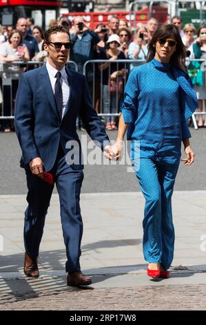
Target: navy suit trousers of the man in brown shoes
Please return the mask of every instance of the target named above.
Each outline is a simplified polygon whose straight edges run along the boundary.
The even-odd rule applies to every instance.
[[[79,197],[83,181],[83,171],[74,170],[66,161],[61,147],[50,173],[53,174],[59,193],[63,239],[68,260],[66,272],[80,271],[81,238],[83,222]],[[45,216],[50,205],[54,186],[26,171],[28,185],[28,207],[25,210],[24,244],[30,257],[39,255],[39,245],[43,235]]]

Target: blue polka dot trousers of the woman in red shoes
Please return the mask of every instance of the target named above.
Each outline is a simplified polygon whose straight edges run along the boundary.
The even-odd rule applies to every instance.
[[[136,176],[145,196],[143,254],[148,263],[161,263],[167,270],[174,256],[172,192],[178,165],[141,158]]]

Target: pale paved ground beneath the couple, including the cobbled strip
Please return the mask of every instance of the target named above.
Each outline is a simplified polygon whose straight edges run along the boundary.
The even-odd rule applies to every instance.
[[[23,275],[25,196],[0,196],[0,310],[206,310],[206,192],[174,192],[176,245],[171,277],[147,277],[141,193],[82,194],[81,265],[87,290],[65,286],[59,198],[52,197],[39,279]]]

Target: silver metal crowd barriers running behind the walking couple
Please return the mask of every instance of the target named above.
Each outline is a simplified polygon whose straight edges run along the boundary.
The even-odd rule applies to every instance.
[[[190,62],[205,62],[203,64],[203,70],[206,70],[205,59],[187,59],[186,64],[189,66]],[[108,64],[107,74],[101,69],[103,64]],[[121,114],[121,102],[123,100],[123,89],[127,82],[127,77],[131,71],[131,68],[145,63],[145,60],[131,60],[131,59],[117,59],[117,60],[90,60],[85,62],[83,66],[83,74],[87,78],[87,82],[90,88],[90,94],[92,95],[92,102],[94,109],[99,116],[105,118],[117,118]],[[12,120],[14,119],[14,98],[17,91],[19,77],[21,73],[27,71],[30,68],[37,68],[44,62],[12,62],[10,64],[0,62],[0,120]],[[110,85],[111,64],[116,64],[116,71],[124,69],[122,76],[117,76],[114,80],[114,84],[119,84],[121,80],[121,87],[116,86],[116,91],[112,91]],[[76,62],[69,61],[68,66],[78,71]],[[107,76],[107,77],[105,77]],[[206,77],[204,76],[204,81]],[[115,88],[115,85],[114,85]],[[203,100],[203,111],[195,111],[192,115],[192,122],[194,128],[198,129],[196,122],[196,115],[206,116],[206,104]]]

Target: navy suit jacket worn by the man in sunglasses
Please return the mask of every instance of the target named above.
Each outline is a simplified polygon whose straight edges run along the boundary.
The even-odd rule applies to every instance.
[[[59,117],[46,66],[21,75],[15,105],[15,129],[22,150],[21,167],[28,168],[34,158],[40,157],[45,171],[54,166],[59,143],[65,154],[70,140],[79,142],[80,163],[73,169],[83,169],[81,144],[76,133],[76,118],[80,116],[92,140],[109,141],[105,128],[92,106],[92,99],[84,75],[66,69],[70,97],[63,118]]]

